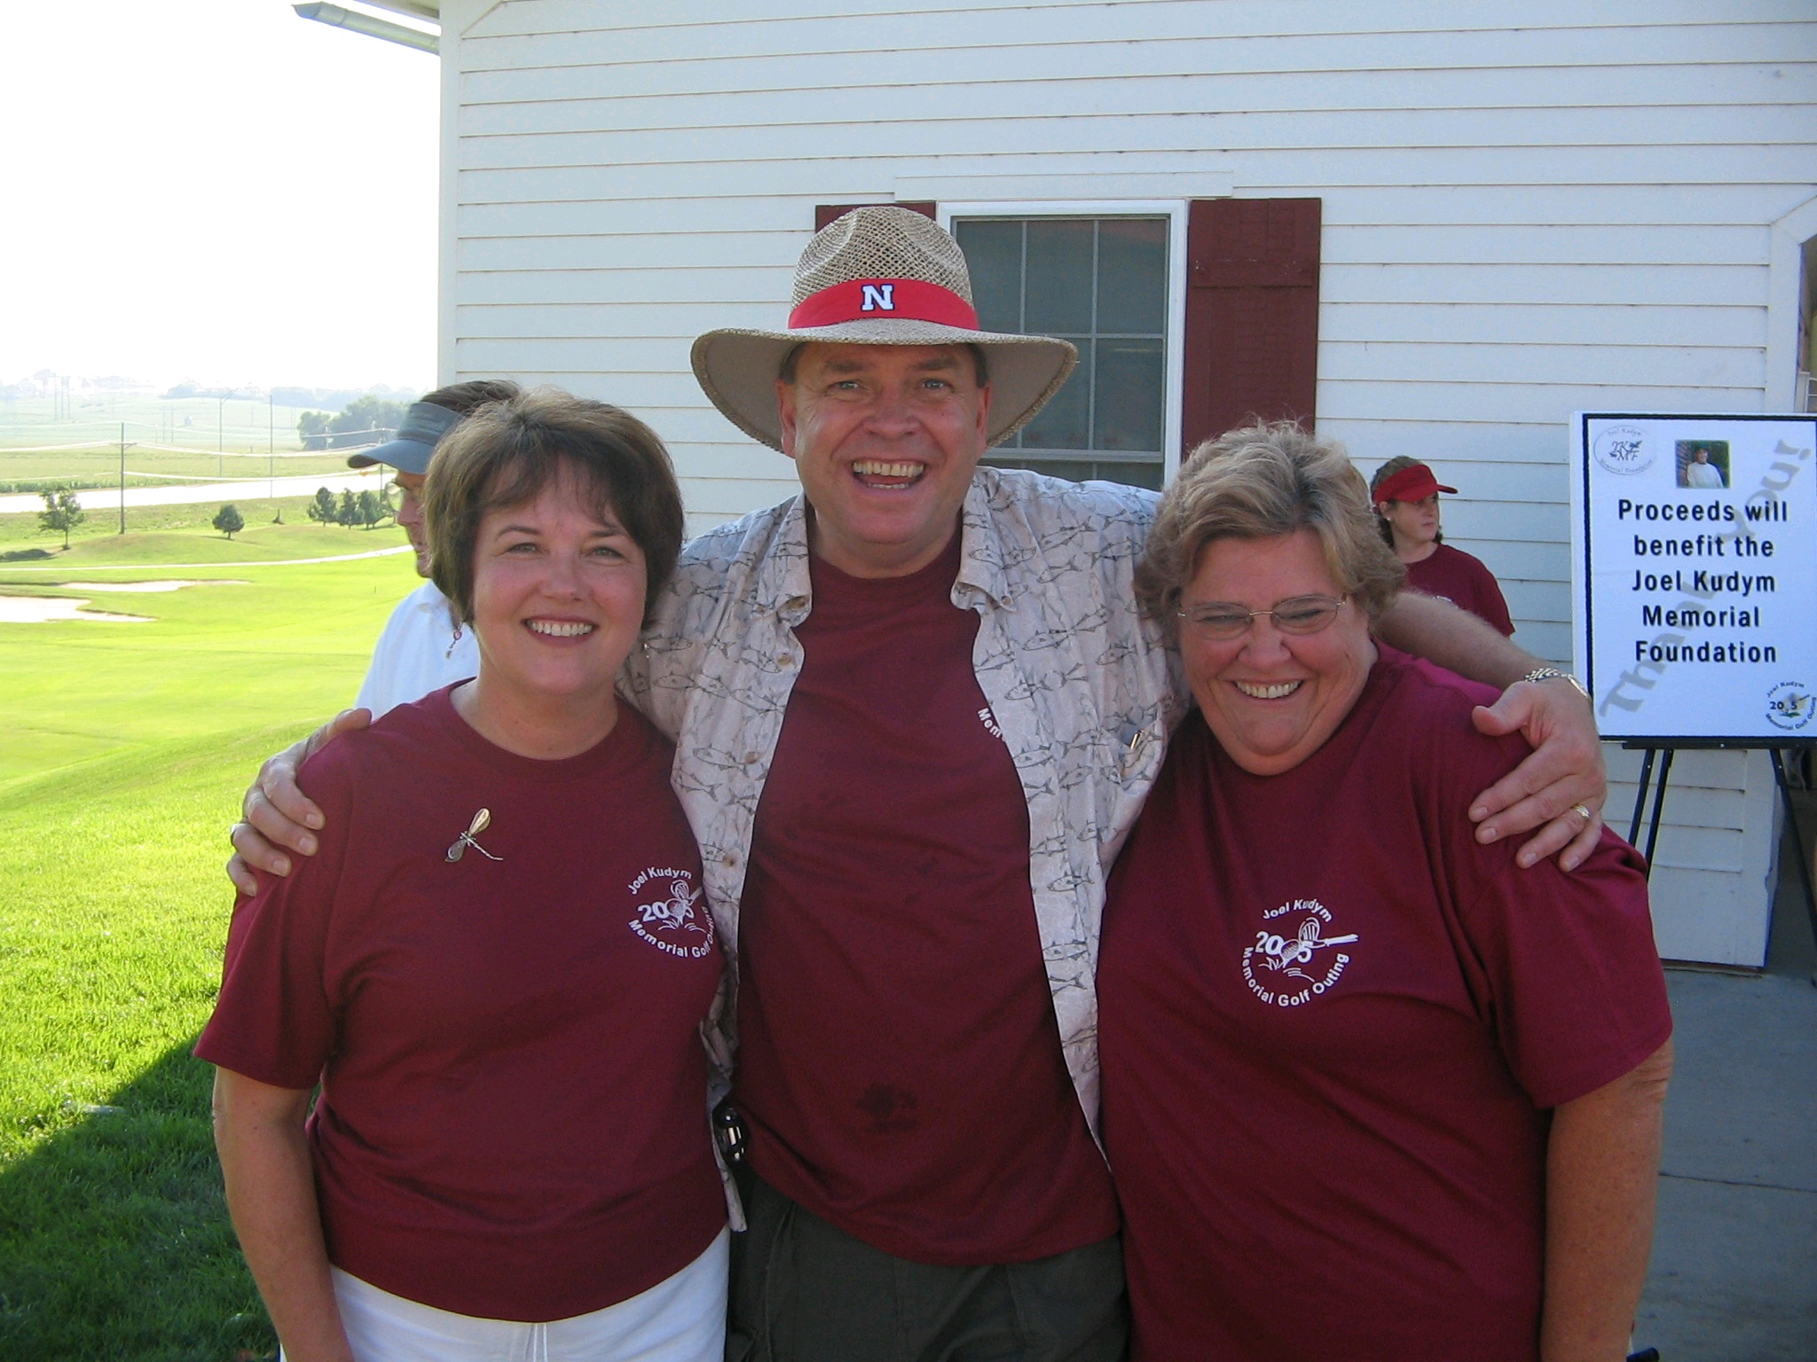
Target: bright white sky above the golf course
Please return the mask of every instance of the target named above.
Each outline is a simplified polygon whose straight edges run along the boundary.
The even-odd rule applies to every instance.
[[[0,383],[434,387],[434,54],[287,0],[5,11]]]

